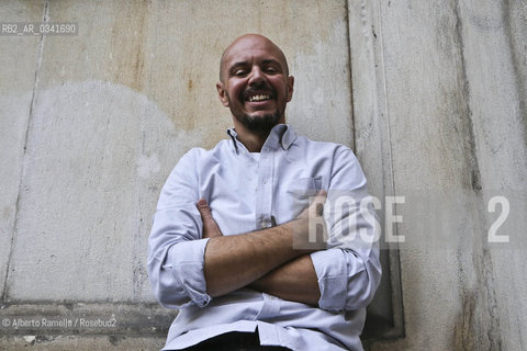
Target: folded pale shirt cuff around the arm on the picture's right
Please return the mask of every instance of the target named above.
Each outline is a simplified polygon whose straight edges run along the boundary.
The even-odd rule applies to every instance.
[[[340,249],[328,249],[311,253],[311,259],[321,290],[318,306],[327,310],[343,310],[348,286],[346,253]]]

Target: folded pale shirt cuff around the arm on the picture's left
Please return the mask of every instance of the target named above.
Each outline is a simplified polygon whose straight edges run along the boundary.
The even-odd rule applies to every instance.
[[[187,296],[200,307],[211,301],[206,293],[204,253],[209,239],[182,241],[172,245],[168,250],[167,261],[172,267],[173,276]]]

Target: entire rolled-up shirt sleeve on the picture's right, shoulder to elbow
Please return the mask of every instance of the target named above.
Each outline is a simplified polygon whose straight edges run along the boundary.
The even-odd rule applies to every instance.
[[[346,148],[334,159],[324,217],[328,249],[311,253],[318,279],[318,306],[332,312],[368,306],[381,281],[379,226],[360,165]]]

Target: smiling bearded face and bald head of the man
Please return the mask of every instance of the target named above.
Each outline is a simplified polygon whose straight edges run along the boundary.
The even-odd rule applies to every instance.
[[[248,131],[268,133],[285,122],[294,79],[271,41],[256,34],[237,38],[223,54],[220,69],[220,100]]]

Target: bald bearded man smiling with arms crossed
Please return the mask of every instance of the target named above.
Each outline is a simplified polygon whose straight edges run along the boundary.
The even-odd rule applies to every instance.
[[[234,129],[179,160],[149,238],[154,293],[180,309],[164,350],[362,350],[381,274],[366,179],[349,148],[284,124],[293,83],[264,36],[222,56]]]

